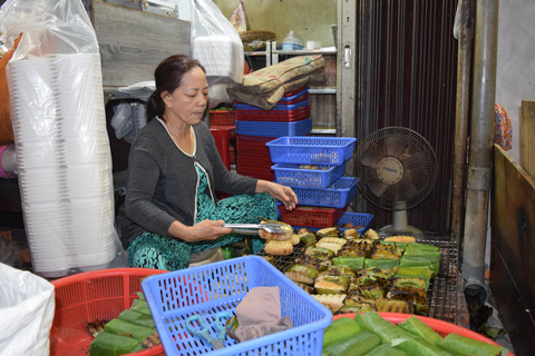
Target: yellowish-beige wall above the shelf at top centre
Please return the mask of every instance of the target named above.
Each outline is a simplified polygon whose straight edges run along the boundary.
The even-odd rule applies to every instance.
[[[239,0],[213,0],[230,19]],[[337,0],[242,0],[249,31],[272,31],[280,43],[290,30],[307,41],[334,46],[331,24],[337,23]]]

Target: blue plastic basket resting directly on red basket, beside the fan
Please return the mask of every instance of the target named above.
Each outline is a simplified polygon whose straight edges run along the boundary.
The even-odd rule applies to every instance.
[[[352,177],[340,177],[325,189],[293,187],[293,191],[298,196],[299,204],[343,208],[357,195],[357,182]]]

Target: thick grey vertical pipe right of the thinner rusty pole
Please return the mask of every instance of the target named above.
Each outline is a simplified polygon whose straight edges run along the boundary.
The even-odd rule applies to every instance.
[[[476,1],[474,90],[461,271],[485,283],[488,199],[493,177],[498,0]]]

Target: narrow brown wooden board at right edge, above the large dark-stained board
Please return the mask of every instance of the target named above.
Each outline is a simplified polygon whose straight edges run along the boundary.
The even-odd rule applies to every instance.
[[[521,166],[535,177],[535,101],[522,100]]]

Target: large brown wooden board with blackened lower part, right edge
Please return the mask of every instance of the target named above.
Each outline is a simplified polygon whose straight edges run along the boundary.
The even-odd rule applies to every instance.
[[[535,181],[495,145],[490,289],[517,355],[535,339]]]

